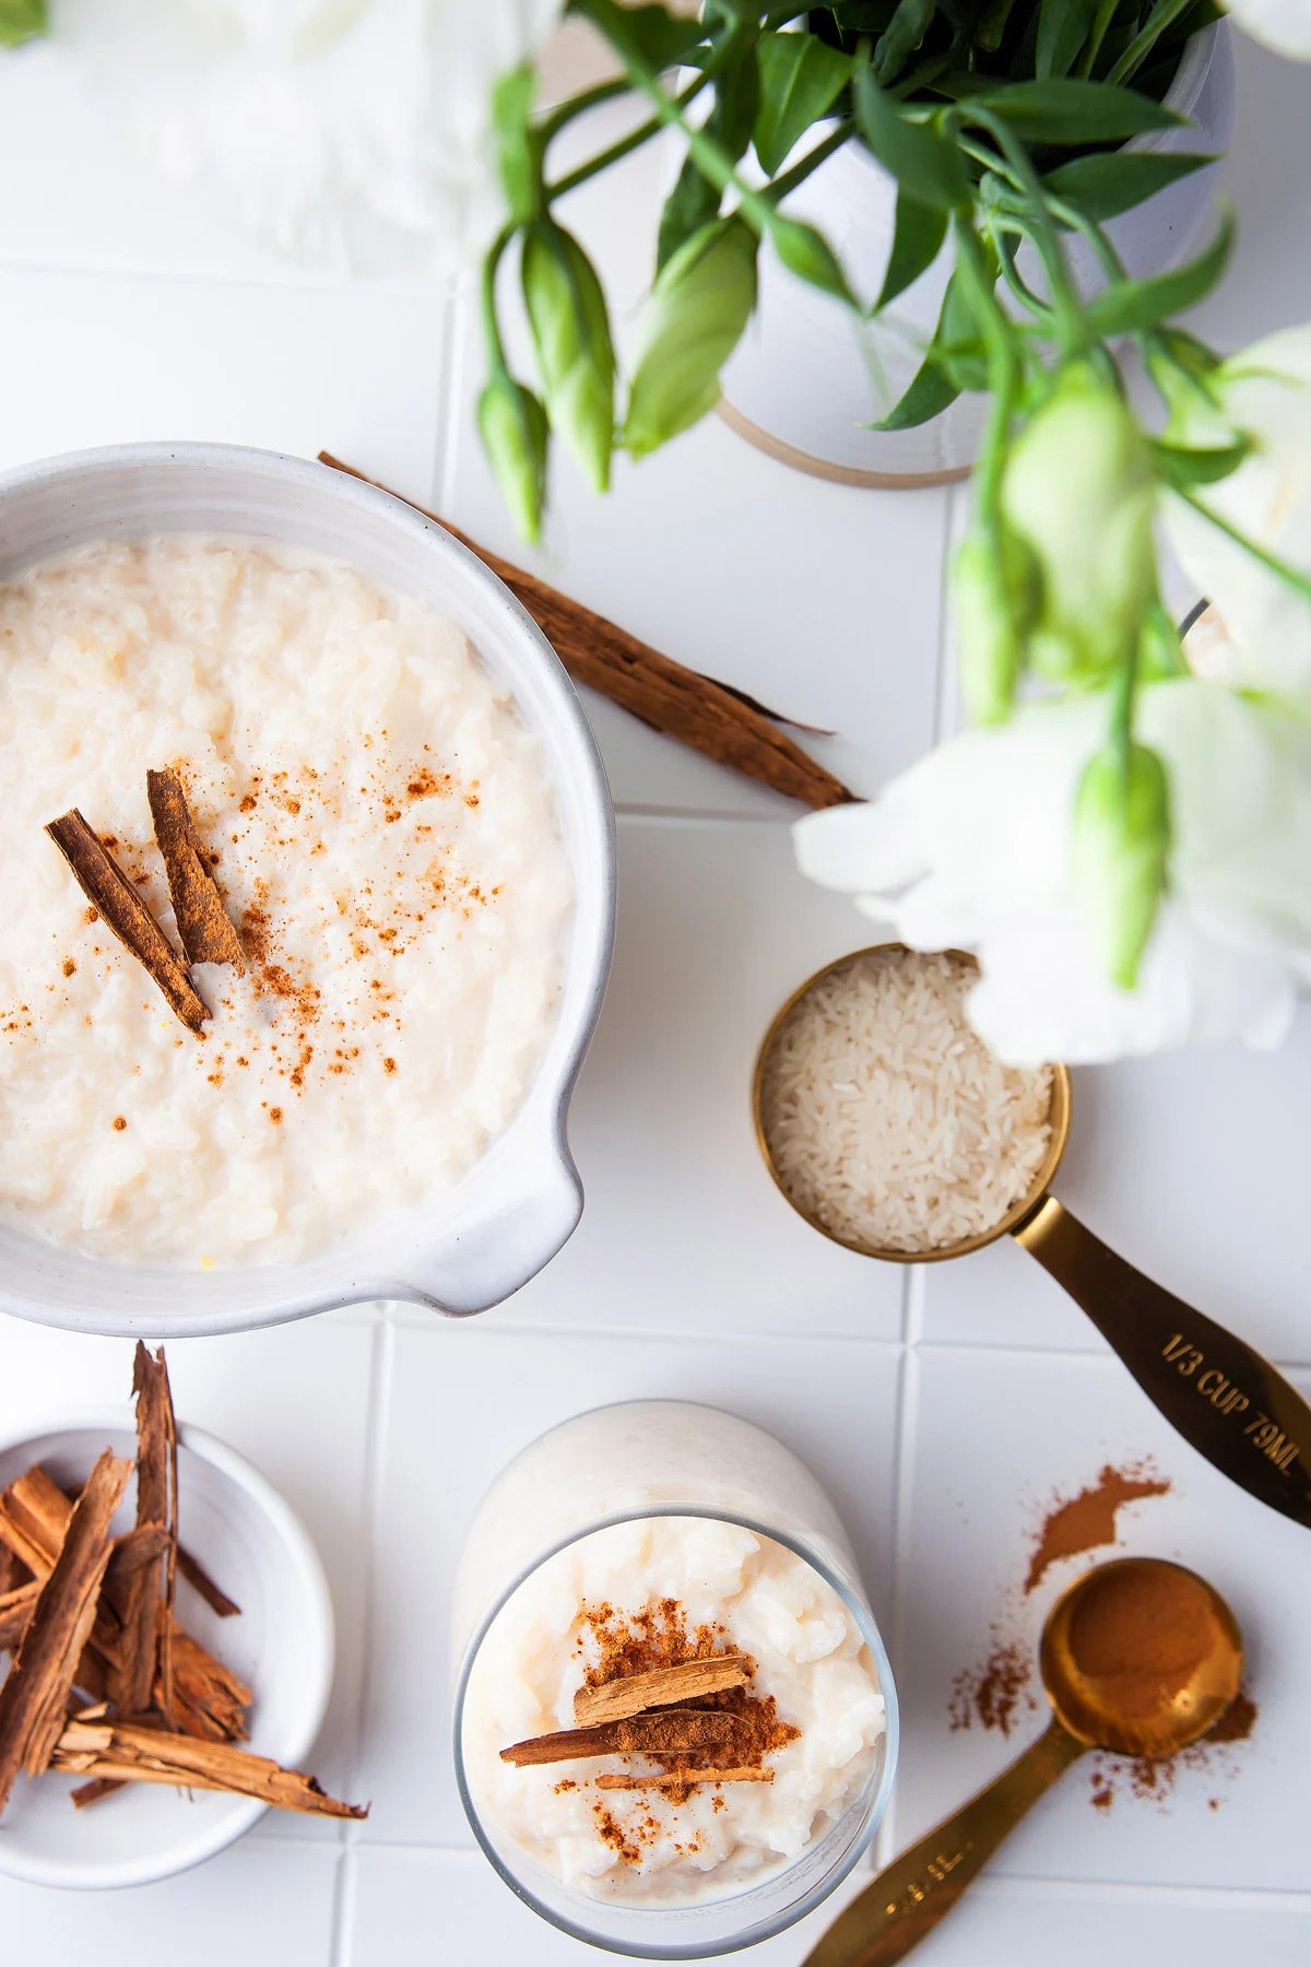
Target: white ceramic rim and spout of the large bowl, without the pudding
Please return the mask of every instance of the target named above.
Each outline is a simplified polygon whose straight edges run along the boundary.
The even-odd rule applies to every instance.
[[[523,1107],[456,1188],[324,1255],[212,1273],[102,1263],[0,1223],[0,1310],[151,1338],[281,1324],[368,1298],[482,1312],[535,1277],[582,1214],[566,1109],[615,923],[615,826],[592,728],[546,637],[476,555],[324,464],[226,445],[122,445],[0,476],[0,580],[94,539],[187,531],[309,547],[460,622],[509,685],[554,783],[574,873],[560,1007]]]

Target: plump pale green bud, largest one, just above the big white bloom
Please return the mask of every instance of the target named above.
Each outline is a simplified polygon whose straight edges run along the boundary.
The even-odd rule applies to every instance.
[[[1112,382],[1067,364],[1020,431],[1000,511],[1034,553],[1042,608],[1030,661],[1095,679],[1136,647],[1156,592],[1152,450]]]

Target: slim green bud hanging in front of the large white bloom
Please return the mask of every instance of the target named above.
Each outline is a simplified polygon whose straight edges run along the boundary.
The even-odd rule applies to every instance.
[[[1148,745],[1130,744],[1089,759],[1075,793],[1073,869],[1107,968],[1134,989],[1138,966],[1166,893],[1169,779]]]

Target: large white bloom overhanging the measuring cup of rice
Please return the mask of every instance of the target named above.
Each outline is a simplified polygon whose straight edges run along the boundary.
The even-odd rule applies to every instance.
[[[1075,787],[1105,728],[1095,694],[965,732],[875,803],[802,820],[800,867],[890,938],[973,950],[971,1021],[1012,1064],[1278,1044],[1311,980],[1311,714],[1195,679],[1142,690],[1173,852],[1132,991],[1109,980],[1071,869]]]

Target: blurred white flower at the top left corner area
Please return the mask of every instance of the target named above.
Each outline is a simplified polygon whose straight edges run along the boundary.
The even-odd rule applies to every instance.
[[[495,81],[562,0],[51,0],[51,39],[136,155],[208,181],[314,268],[478,254],[501,212]]]

